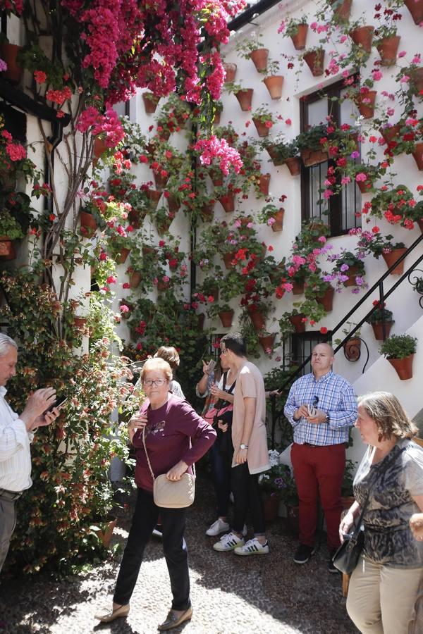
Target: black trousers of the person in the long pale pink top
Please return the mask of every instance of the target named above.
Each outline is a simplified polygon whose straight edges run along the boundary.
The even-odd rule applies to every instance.
[[[251,475],[247,462],[232,468],[232,492],[235,513],[233,530],[243,532],[247,511],[250,509],[254,534],[264,535],[266,526],[259,476]]]

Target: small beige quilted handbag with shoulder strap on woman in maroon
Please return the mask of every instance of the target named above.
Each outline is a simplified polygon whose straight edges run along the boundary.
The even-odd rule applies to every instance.
[[[142,442],[153,478],[154,504],[164,509],[185,509],[186,506],[191,506],[195,497],[195,476],[190,473],[184,473],[180,480],[168,480],[166,475],[163,474],[155,478],[147,454],[147,447],[145,446],[145,428],[142,428]],[[195,473],[195,466],[193,468]]]

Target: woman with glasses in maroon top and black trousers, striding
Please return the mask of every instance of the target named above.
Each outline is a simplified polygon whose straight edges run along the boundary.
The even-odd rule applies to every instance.
[[[142,429],[145,427],[145,442],[154,476],[166,473],[169,480],[180,480],[186,471],[192,473],[192,465],[211,447],[216,432],[188,402],[173,397],[168,391],[171,380],[172,371],[167,361],[146,361],[141,381],[147,399],[128,423],[130,440],[136,448],[137,504],[118,573],[112,610],[97,616],[103,622],[128,616],[129,600],[137,583],[144,549],[159,513],[173,595],[171,610],[159,630],[175,628],[192,616],[188,551],[183,538],[186,509],[159,509],[154,504],[153,481],[142,443]]]

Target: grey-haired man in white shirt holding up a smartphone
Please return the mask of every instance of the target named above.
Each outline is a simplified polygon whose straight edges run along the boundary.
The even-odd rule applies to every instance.
[[[32,485],[30,443],[34,431],[59,416],[53,387],[34,392],[22,414],[11,409],[4,398],[5,385],[16,375],[17,361],[16,342],[0,333],[0,571],[16,525],[16,500]]]

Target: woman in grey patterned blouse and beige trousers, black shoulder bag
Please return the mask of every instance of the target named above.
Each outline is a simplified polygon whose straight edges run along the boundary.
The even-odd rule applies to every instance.
[[[423,511],[423,449],[417,428],[388,392],[358,399],[355,426],[369,447],[354,479],[356,502],[341,522],[348,533],[364,513],[364,549],[350,580],[347,610],[362,634],[405,634],[423,576],[423,542],[410,528]]]

